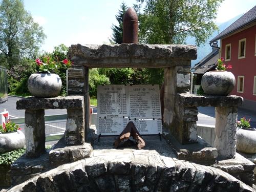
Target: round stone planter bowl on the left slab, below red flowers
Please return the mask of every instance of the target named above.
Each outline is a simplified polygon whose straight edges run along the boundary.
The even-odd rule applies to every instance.
[[[56,97],[61,86],[60,77],[54,73],[31,74],[28,80],[29,92],[35,97]]]

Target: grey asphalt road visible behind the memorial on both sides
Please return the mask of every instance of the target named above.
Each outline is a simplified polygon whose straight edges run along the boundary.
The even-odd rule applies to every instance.
[[[0,112],[6,109],[9,111],[9,116],[11,119],[14,118],[22,118],[25,116],[25,110],[16,110],[16,101],[20,99],[19,97],[9,96],[8,101],[0,105]],[[209,124],[215,125],[215,108],[214,107],[199,107],[198,108],[198,121],[199,124]],[[45,110],[45,115],[58,115],[58,114],[66,114],[67,110]],[[246,117],[246,119],[251,118],[251,126],[256,127],[256,113],[239,109],[238,110],[238,119]]]

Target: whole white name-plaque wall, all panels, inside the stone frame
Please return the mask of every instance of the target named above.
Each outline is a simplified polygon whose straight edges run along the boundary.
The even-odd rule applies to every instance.
[[[119,135],[133,121],[141,135],[162,134],[158,85],[98,87],[97,134]]]

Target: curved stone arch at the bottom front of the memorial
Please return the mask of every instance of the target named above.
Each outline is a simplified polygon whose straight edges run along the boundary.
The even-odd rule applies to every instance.
[[[94,150],[7,191],[254,191],[215,167],[164,157],[155,150]]]

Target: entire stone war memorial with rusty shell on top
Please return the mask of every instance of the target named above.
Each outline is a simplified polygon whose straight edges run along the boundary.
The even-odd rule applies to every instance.
[[[7,191],[254,191],[255,165],[236,153],[243,98],[189,94],[196,47],[137,44],[137,15],[127,12],[124,24],[135,22],[124,25],[125,44],[70,47],[69,96],[17,101],[17,109],[26,110],[26,154],[11,165]],[[160,85],[99,86],[92,129],[90,68],[163,68],[163,94]],[[215,146],[197,135],[198,106],[216,109]],[[65,135],[50,150],[45,109],[68,114]],[[145,141],[142,150],[113,146],[130,121]]]

